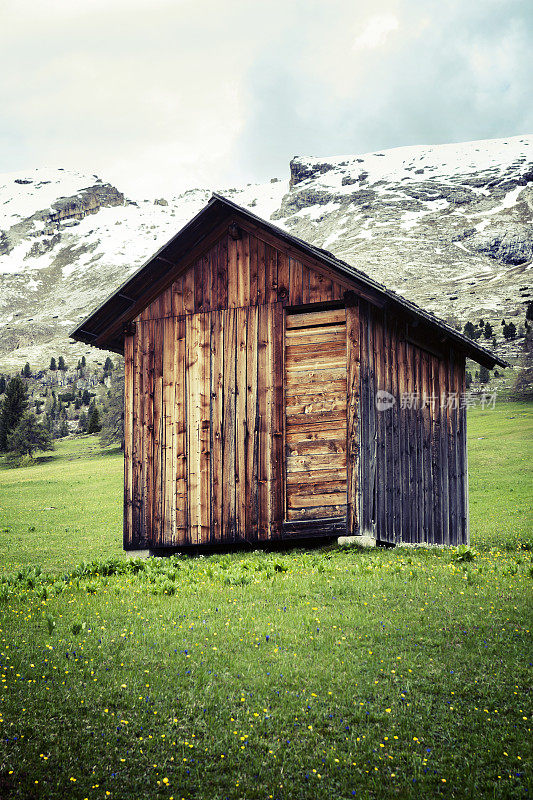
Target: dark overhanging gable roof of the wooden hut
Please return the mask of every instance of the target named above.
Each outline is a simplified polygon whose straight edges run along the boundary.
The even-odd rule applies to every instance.
[[[226,197],[213,194],[207,205],[193,217],[175,236],[146,261],[130,278],[113,292],[92,314],[70,334],[73,339],[103,350],[123,353],[124,326],[145,308],[175,279],[174,270],[192,250],[207,246],[213,232],[232,220],[242,220],[269,232],[286,245],[321,262],[345,280],[348,278],[356,291],[381,307],[402,310],[413,322],[424,322],[440,338],[455,344],[469,358],[492,369],[496,364],[507,367],[506,361],[491,353],[477,342],[454,330],[429,311],[417,306],[401,295],[387,289],[366,273],[336,258],[328,250],[298,239],[282,228],[267,222]],[[222,230],[220,230],[222,233]]]

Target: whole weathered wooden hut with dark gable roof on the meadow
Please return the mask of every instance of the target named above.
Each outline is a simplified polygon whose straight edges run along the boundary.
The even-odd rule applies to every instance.
[[[465,358],[505,365],[213,195],[72,334],[125,358],[124,548],[468,542]]]

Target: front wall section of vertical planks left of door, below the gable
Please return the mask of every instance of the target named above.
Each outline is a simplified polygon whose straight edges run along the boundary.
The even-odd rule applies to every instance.
[[[137,323],[126,367],[126,548],[279,535],[279,330],[279,303]]]

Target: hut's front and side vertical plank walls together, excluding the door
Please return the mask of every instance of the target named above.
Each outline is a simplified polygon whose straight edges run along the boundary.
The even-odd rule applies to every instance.
[[[282,535],[284,308],[339,301],[345,288],[243,230],[140,314],[125,343],[126,548]],[[464,359],[405,331],[364,299],[347,302],[348,531],[463,543],[466,418],[441,396],[460,396]],[[378,412],[380,390],[395,403]]]

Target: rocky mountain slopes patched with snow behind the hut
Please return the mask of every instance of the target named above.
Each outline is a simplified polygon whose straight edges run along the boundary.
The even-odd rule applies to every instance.
[[[211,194],[128,199],[119,189],[62,169],[0,176],[0,369],[57,354],[101,360],[67,344],[68,331]],[[290,181],[217,191],[454,324],[523,322],[532,136],[295,158]]]

